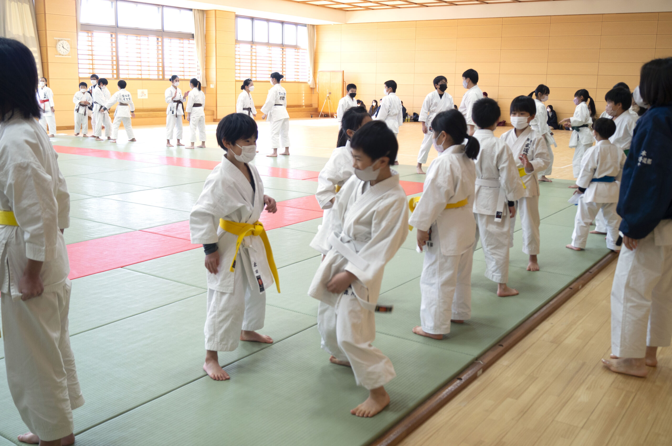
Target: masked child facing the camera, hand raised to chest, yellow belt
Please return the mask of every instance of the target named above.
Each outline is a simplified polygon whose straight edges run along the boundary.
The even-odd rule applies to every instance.
[[[511,101],[510,109],[511,124],[514,128],[499,137],[511,148],[519,175],[525,185],[523,196],[518,199],[515,206],[523,229],[523,253],[530,256],[528,271],[539,271],[537,255],[541,239],[537,173],[544,171],[550,164],[546,140],[530,127],[530,122],[534,120],[536,113],[537,107],[532,97],[516,97]],[[515,221],[511,222],[511,243],[514,231]]]

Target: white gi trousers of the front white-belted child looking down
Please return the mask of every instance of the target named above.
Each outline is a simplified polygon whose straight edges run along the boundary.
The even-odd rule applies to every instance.
[[[348,361],[355,382],[368,390],[384,386],[396,376],[392,361],[371,345],[376,339],[376,316],[366,310],[348,287],[336,306],[320,302],[317,328],[322,349],[339,361]]]

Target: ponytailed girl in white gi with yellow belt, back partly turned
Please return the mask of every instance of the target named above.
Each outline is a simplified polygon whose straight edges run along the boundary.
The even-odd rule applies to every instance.
[[[409,224],[417,228],[417,245],[425,248],[420,277],[420,326],[415,334],[442,339],[450,322],[471,318],[471,269],[474,258],[474,184],[478,140],[468,135],[457,110],[437,114],[431,122],[439,157],[429,165],[425,191]],[[466,145],[462,144],[466,140]],[[415,203],[415,199],[411,199]]]

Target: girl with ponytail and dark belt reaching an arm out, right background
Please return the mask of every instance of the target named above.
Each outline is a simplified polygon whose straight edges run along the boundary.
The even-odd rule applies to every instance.
[[[572,126],[572,136],[569,138],[569,148],[574,148],[574,157],[572,159],[572,171],[575,178],[579,177],[581,170],[581,159],[583,154],[593,145],[593,133],[591,125],[595,118],[595,101],[590,97],[587,89],[580,89],[574,93],[574,103],[577,106],[574,110],[574,116],[564,118],[558,124],[570,124]],[[576,185],[570,186],[576,189]]]

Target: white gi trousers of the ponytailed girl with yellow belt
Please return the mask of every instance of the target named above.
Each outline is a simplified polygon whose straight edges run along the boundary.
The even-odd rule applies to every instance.
[[[420,276],[420,323],[431,334],[450,333],[450,320],[471,318],[471,269],[474,249],[460,255],[443,255],[436,224],[423,251]]]

